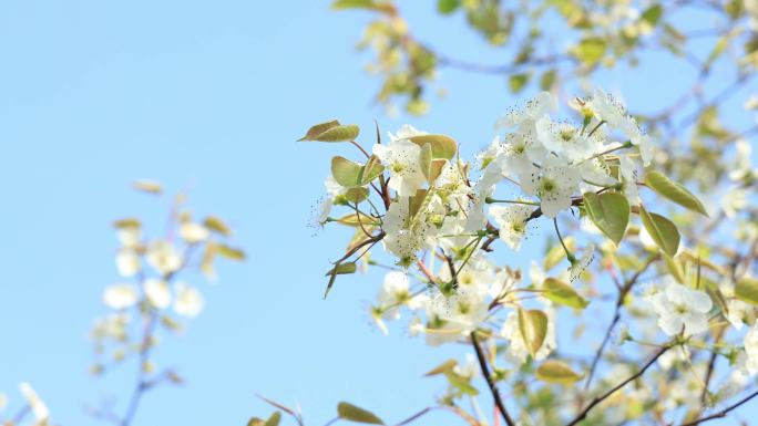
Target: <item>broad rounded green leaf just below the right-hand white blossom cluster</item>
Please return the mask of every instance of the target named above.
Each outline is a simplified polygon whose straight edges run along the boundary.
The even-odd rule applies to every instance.
[[[584,207],[597,229],[618,246],[629,222],[629,201],[626,197],[618,193],[585,193]]]

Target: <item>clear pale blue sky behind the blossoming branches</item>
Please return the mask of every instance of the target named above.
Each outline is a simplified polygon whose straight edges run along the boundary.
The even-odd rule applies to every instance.
[[[496,63],[460,31],[461,17],[434,17],[432,3],[406,7],[422,39]],[[338,117],[361,125],[369,144],[375,118],[385,129],[408,121],[471,154],[514,98],[502,79],[444,70],[449,95],[430,115],[388,118],[371,104],[378,82],[354,49],[367,20],[328,1],[0,6],[0,392],[19,403],[17,385],[29,381],[66,425],[98,424],[88,404],[126,398],[133,365],[88,376],[86,333],[106,312],[102,289],[119,280],[112,220],[163,220],[166,201],[129,188],[153,178],[188,188],[198,214],[226,218],[249,260],[224,264],[218,284],[190,276],[206,311],[157,357],[187,384],[151,394],[136,425],[244,424],[270,412],[255,393],[299,404],[309,424],[326,423],[342,399],[389,422],[433,402],[444,384],[421,375],[464,350],[426,347],[401,328],[376,332],[365,308],[380,274],[344,278],[321,300],[347,233],[313,237],[306,224],[330,156],[352,153],[295,139]],[[600,82],[637,110],[657,110],[655,96],[672,100],[689,79],[657,79],[662,69],[687,71],[651,59],[660,67],[614,70]],[[734,120],[747,127],[752,117]],[[421,424],[457,423],[432,415]]]

